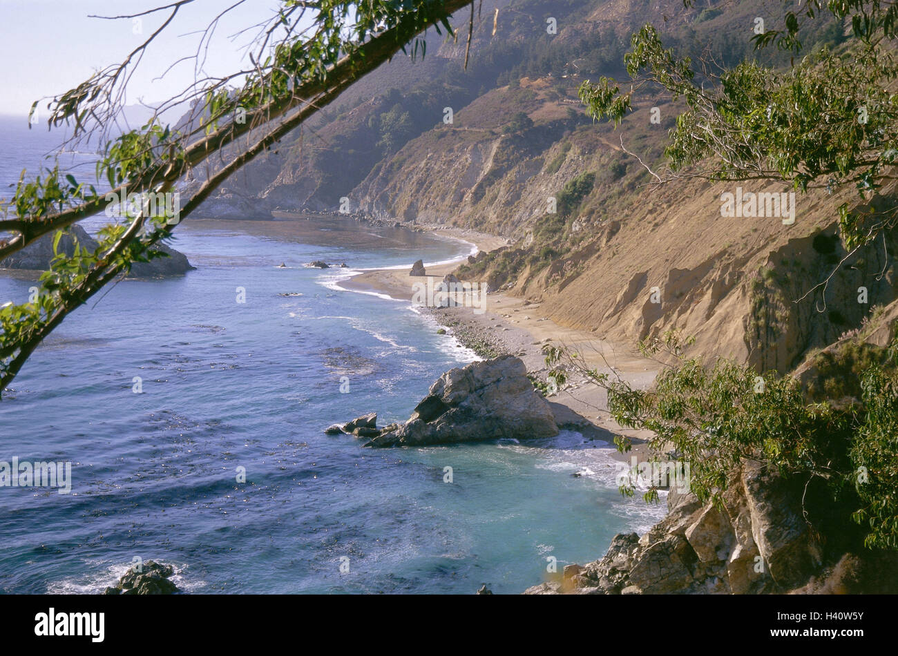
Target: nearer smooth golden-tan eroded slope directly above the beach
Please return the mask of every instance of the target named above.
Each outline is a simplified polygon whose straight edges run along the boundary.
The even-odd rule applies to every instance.
[[[592,240],[513,278],[511,293],[598,337],[632,344],[676,329],[696,338],[691,356],[782,373],[896,298],[894,232],[846,259],[832,205],[817,197],[797,197],[796,223],[783,225],[720,216],[725,186],[678,187],[586,227]]]

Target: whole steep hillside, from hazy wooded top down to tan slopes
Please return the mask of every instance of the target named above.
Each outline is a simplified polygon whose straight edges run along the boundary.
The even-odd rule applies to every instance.
[[[337,211],[346,198],[352,213],[493,232],[515,245],[460,276],[550,303],[559,323],[603,337],[632,343],[681,328],[709,358],[788,371],[894,300],[883,245],[841,267],[825,299],[796,302],[844,255],[831,239],[841,198],[799,195],[791,225],[723,217],[721,195],[735,186],[656,186],[639,161],[661,159],[674,107],[642,101],[615,130],[593,124],[577,99],[587,78],[625,79],[629,34],[645,22],[693,57],[732,63],[754,56],[757,17],[776,26],[784,12],[772,0],[485,2],[467,70],[467,35],[431,32],[423,61],[397,57],[366,77],[230,180],[207,211]],[[814,29],[809,48],[842,39],[834,22]],[[771,48],[763,57],[788,61]]]

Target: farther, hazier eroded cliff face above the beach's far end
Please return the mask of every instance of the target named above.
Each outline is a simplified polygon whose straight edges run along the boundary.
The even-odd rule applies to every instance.
[[[549,80],[489,92],[375,167],[352,198],[379,216],[523,238],[582,160],[575,153],[563,172],[545,172],[559,143],[588,122],[571,102]],[[534,125],[511,130],[515,113],[528,111]]]

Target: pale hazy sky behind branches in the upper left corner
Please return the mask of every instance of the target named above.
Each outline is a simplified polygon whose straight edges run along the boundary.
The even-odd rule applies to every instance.
[[[143,12],[171,0],[0,0],[0,114],[27,115],[31,102],[74,88],[92,72],[121,61],[165,20],[170,10],[132,19],[89,18]],[[163,81],[154,78],[180,57],[196,52],[200,35],[217,13],[235,0],[195,0],[150,46],[129,85],[128,104],[147,103],[180,92],[192,80],[193,61],[180,64]],[[216,28],[206,70],[223,74],[239,70],[242,49],[256,31],[235,39],[243,28],[267,20],[275,0],[246,0]],[[143,33],[137,34],[136,30]],[[41,108],[46,107],[46,101]]]

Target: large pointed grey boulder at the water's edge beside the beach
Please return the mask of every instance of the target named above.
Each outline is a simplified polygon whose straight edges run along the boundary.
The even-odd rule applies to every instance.
[[[551,408],[533,389],[524,363],[514,355],[502,355],[445,372],[409,421],[384,430],[368,445],[527,440],[558,433]]]

